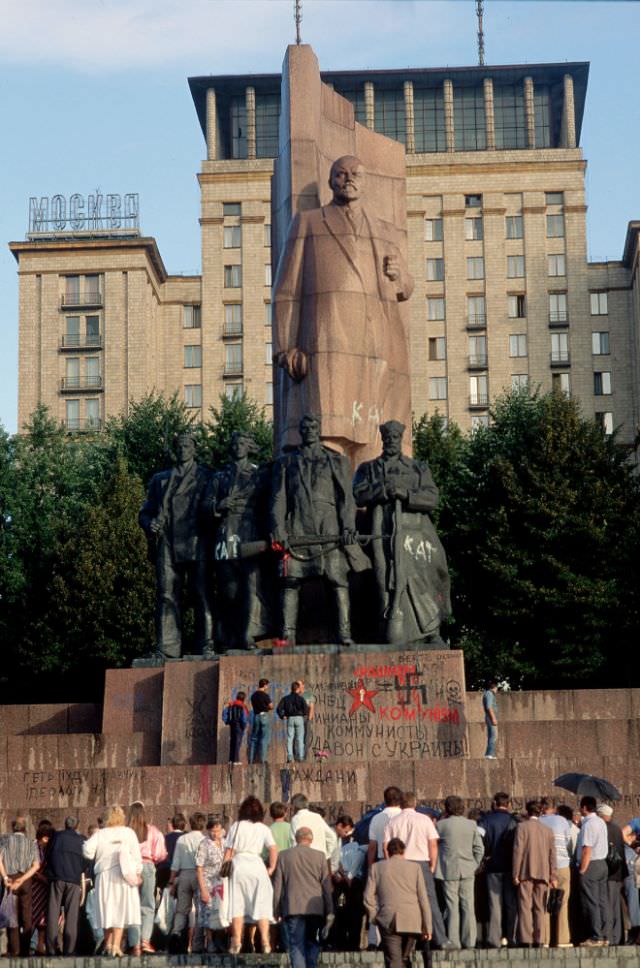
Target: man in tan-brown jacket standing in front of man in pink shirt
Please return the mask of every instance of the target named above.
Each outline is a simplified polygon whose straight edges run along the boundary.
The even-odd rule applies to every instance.
[[[431,908],[419,864],[403,857],[404,844],[393,837],[387,860],[374,864],[364,892],[369,919],[380,928],[385,968],[408,968],[416,941],[431,938]]]

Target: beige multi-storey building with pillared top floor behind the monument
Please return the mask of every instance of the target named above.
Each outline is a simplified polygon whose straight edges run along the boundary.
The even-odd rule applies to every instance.
[[[589,263],[580,133],[585,63],[329,72],[356,120],[406,148],[413,408],[463,428],[516,386],[557,386],[632,439],[638,234]],[[206,414],[221,393],[269,410],[270,195],[280,76],[191,78],[206,143],[202,275],[169,275],[137,230],[39,232],[20,265],[22,423],[70,429],[152,389]]]

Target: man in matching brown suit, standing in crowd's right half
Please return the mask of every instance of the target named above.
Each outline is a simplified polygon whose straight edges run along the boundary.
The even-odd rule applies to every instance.
[[[518,939],[540,948],[546,938],[545,902],[549,887],[557,887],[556,845],[548,827],[540,823],[542,804],[529,800],[527,819],[518,824],[513,839],[513,883],[518,892]]]

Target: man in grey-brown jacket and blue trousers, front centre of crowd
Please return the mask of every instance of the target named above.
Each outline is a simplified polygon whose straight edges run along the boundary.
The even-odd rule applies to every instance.
[[[309,827],[299,827],[295,836],[296,846],[278,855],[273,910],[284,918],[292,968],[316,968],[320,931],[326,937],[334,920],[331,879],[324,851],[311,846]]]

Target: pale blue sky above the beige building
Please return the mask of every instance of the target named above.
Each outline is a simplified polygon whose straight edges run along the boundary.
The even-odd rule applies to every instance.
[[[199,272],[204,143],[190,75],[278,71],[292,0],[0,0],[0,422],[17,429],[18,280],[30,195],[139,192],[171,272]],[[477,62],[474,0],[303,0],[321,67]],[[640,218],[640,3],[485,0],[486,63],[591,62],[590,258]]]

